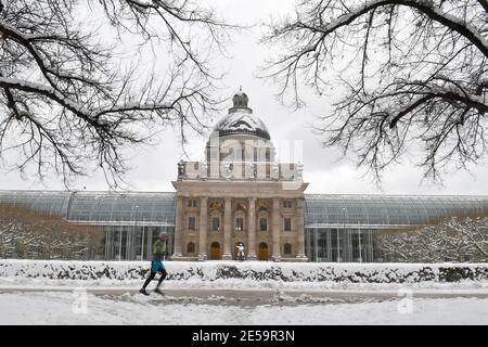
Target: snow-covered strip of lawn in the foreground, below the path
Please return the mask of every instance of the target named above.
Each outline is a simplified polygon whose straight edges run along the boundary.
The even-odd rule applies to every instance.
[[[70,293],[0,294],[0,324],[488,324],[479,298],[414,298],[356,304],[167,304],[139,295],[117,299],[88,294],[86,312]]]

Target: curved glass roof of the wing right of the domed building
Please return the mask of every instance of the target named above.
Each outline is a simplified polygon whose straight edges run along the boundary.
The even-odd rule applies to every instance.
[[[305,194],[305,204],[309,228],[389,228],[488,214],[488,196]]]

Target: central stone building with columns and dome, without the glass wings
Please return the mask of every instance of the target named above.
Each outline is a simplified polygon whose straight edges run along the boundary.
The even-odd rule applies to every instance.
[[[268,129],[247,101],[234,95],[205,159],[178,163],[175,260],[231,260],[236,243],[249,260],[307,260],[301,164],[275,162]]]

